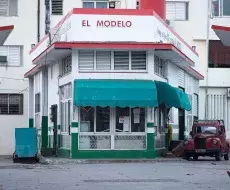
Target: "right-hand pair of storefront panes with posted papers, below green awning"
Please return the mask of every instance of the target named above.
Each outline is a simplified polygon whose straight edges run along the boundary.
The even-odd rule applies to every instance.
[[[145,109],[117,107],[116,132],[145,132]]]

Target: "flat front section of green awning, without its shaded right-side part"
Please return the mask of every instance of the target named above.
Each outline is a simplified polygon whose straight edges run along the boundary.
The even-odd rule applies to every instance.
[[[100,107],[156,107],[157,90],[149,80],[75,80],[74,104]]]

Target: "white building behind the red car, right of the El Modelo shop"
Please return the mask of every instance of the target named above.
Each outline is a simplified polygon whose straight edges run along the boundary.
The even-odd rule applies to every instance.
[[[229,47],[225,47],[212,25],[229,26],[228,0],[167,1],[170,25],[199,53],[205,79],[200,81],[199,118],[224,119],[230,138]],[[206,111],[205,111],[206,110]]]

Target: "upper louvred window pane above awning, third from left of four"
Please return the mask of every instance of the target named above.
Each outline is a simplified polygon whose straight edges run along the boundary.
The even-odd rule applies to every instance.
[[[129,52],[114,51],[114,69],[129,70]]]

